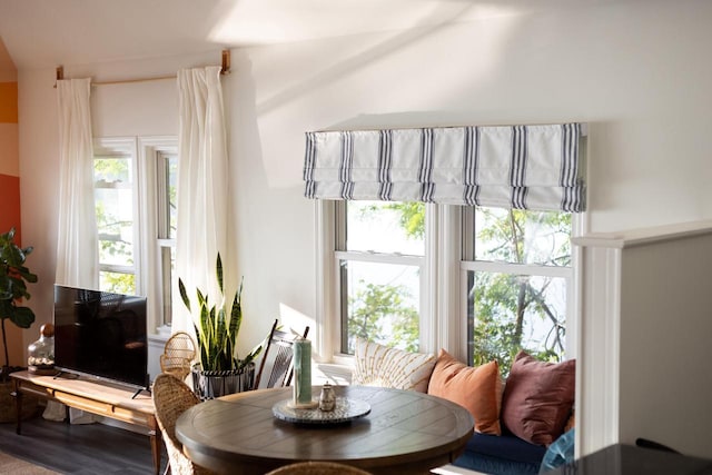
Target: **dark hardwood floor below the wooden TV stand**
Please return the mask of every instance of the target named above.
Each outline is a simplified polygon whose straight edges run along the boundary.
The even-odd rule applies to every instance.
[[[44,420],[41,415],[0,424],[0,451],[62,474],[147,475],[154,473],[149,438],[105,424],[71,425]],[[161,443],[162,446],[162,443]],[[164,447],[161,473],[168,463]]]

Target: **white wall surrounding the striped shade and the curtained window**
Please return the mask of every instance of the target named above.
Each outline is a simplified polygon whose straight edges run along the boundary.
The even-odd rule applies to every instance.
[[[301,185],[306,130],[585,121],[590,231],[712,218],[712,3],[540,3],[560,8],[233,50],[224,90],[244,347],[279,314],[315,314],[315,212]],[[219,62],[219,48],[214,55],[65,70],[144,77]],[[28,264],[41,278],[31,301],[41,321],[51,318],[57,229],[52,83],[53,70],[19,75],[22,231],[37,248]],[[96,93],[97,133],[175,133],[170,83],[103,88]],[[34,334],[26,333],[28,344]],[[636,342],[627,344],[634,350]],[[670,345],[674,355],[684,340]]]

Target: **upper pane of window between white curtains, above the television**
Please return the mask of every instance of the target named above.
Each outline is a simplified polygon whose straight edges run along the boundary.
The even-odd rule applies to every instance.
[[[129,158],[95,159],[99,263],[134,265],[134,184]]]

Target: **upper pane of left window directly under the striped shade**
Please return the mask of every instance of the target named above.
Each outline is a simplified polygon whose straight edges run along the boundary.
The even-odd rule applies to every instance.
[[[347,201],[346,250],[423,256],[425,205]]]

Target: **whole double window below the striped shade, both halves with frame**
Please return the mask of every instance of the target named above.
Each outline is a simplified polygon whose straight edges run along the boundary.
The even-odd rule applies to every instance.
[[[546,360],[573,354],[573,215],[421,202],[320,206],[322,246],[332,249],[322,254],[332,289],[323,311],[333,316],[324,323],[334,355],[353,354],[357,336],[409,350],[458,346],[468,364],[496,358],[507,374],[518,349]]]

